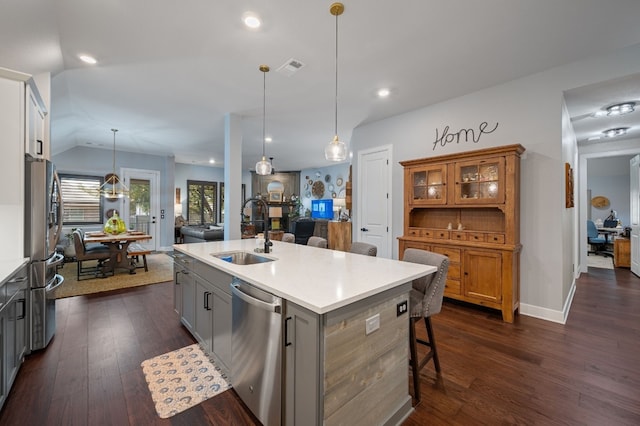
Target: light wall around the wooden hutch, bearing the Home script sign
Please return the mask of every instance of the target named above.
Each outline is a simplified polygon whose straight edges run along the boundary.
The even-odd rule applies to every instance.
[[[573,63],[436,105],[358,127],[353,132],[354,152],[393,144],[397,161],[452,154],[468,150],[522,144],[527,151],[521,163],[521,309],[523,314],[564,322],[574,278],[577,245],[577,213],[564,204],[564,163],[575,164],[571,136],[563,133],[564,90],[609,80],[640,71],[640,45],[607,56]],[[434,149],[435,131],[450,132],[489,128],[477,143],[451,143]],[[354,158],[356,156],[354,155]],[[573,161],[573,163],[572,163]],[[357,176],[354,163],[353,176]],[[575,176],[580,173],[575,167]],[[393,165],[393,192],[402,194],[403,175]],[[353,199],[357,200],[355,183]],[[394,237],[402,233],[403,201],[395,196]],[[576,194],[576,203],[578,194]],[[357,205],[354,206],[357,209]],[[354,225],[357,228],[357,224]],[[568,251],[568,253],[566,252]],[[397,245],[394,258],[398,257]]]

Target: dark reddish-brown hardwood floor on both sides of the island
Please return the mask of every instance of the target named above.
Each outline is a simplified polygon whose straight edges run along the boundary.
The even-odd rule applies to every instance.
[[[57,334],[25,360],[0,425],[256,424],[233,391],[156,415],[140,363],[194,342],[172,292],[164,283],[59,300]],[[422,370],[405,425],[640,424],[640,278],[628,269],[582,274],[565,325],[506,324],[446,301],[433,326],[442,375]]]

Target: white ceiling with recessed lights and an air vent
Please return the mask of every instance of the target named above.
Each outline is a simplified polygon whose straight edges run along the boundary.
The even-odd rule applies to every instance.
[[[339,18],[338,134],[363,123],[640,43],[635,0],[345,0]],[[243,168],[262,154],[279,170],[322,167],[334,135],[335,18],[331,1],[7,0],[0,66],[52,75],[51,148],[174,155],[217,166],[224,118],[242,118]],[[248,30],[247,11],[263,26]],[[98,60],[87,65],[79,54]],[[276,70],[291,58],[292,76]],[[577,118],[627,100],[623,86],[575,92],[567,104],[580,138],[598,120]],[[379,88],[391,95],[376,97]],[[615,96],[614,96],[615,94]],[[622,99],[624,98],[624,99]],[[640,116],[640,112],[629,114]],[[640,120],[640,118],[636,118]],[[639,127],[640,128],[640,127]]]

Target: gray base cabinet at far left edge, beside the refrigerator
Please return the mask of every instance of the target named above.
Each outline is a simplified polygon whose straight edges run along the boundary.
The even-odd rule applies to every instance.
[[[27,284],[28,267],[23,266],[0,286],[0,408],[27,351]]]

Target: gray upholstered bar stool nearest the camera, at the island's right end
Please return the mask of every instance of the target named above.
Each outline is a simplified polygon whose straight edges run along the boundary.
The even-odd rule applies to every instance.
[[[420,402],[420,370],[433,359],[436,373],[440,374],[440,360],[436,341],[431,327],[431,316],[440,312],[444,286],[449,270],[449,258],[442,254],[427,250],[408,248],[404,251],[403,261],[432,265],[438,268],[433,274],[413,280],[409,296],[409,352],[411,355],[411,371],[413,375],[413,393],[416,403]],[[416,322],[424,319],[427,340],[416,336]],[[417,345],[429,348],[429,352],[421,360],[418,359]]]

